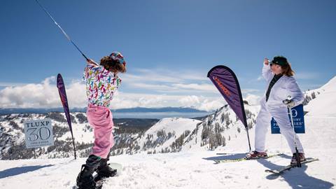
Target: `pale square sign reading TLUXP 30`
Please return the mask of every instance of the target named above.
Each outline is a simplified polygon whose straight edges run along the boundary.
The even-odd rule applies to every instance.
[[[27,148],[38,148],[41,146],[53,146],[54,135],[50,119],[27,120],[25,125],[25,139]]]

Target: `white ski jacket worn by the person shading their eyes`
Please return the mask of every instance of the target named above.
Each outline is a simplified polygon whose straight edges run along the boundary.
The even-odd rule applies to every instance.
[[[271,71],[271,67],[266,64],[262,67],[262,76],[267,80],[267,88],[274,73]],[[266,89],[267,92],[267,89]],[[266,101],[266,92],[262,97],[261,101]],[[288,98],[288,95],[295,102],[295,106],[302,104],[304,96],[296,83],[295,78],[292,76],[282,76],[276,81],[269,93],[269,98],[266,102],[266,107],[269,113],[278,113],[281,109],[287,111],[287,106],[283,104],[283,100]],[[265,103],[265,102],[264,102]]]

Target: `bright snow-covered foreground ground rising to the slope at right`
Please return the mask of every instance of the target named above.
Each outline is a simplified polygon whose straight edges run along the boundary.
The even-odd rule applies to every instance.
[[[318,158],[317,162],[291,169],[281,176],[267,174],[265,169],[288,165],[291,158],[286,140],[280,134],[269,132],[268,153],[282,152],[285,155],[267,160],[214,164],[213,160],[217,159],[244,157],[248,144],[243,130],[227,146],[215,151],[194,148],[179,153],[113,156],[110,161],[122,164],[123,172],[107,179],[103,188],[336,188],[335,89],[336,78],[318,89],[321,94],[312,99],[306,109],[309,110],[304,117],[306,134],[299,134],[306,156]],[[168,122],[162,122],[165,121]],[[179,121],[192,128],[193,120]],[[176,128],[181,127],[176,125]],[[250,138],[253,146],[254,129],[250,130]],[[1,160],[0,188],[73,188],[84,162],[85,158]]]

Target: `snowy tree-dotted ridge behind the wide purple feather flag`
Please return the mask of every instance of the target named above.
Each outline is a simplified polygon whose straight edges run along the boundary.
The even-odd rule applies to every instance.
[[[248,125],[254,125],[256,115],[260,106],[244,105],[247,112]],[[224,106],[208,116],[202,124],[191,133],[183,145],[183,151],[218,151],[228,149],[232,143],[236,143],[236,139],[246,139],[245,127],[240,120],[237,120],[234,111],[230,106]],[[248,148],[247,139],[246,148]]]

